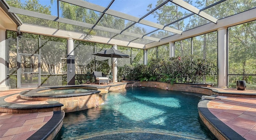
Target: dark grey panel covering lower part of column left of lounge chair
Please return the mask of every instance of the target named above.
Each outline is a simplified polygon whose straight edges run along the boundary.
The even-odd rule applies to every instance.
[[[68,85],[75,84],[75,56],[68,55],[67,57],[67,82]]]

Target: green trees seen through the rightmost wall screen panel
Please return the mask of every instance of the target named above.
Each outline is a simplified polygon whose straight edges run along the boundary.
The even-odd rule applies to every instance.
[[[229,28],[230,74],[256,74],[255,30],[255,21]],[[243,75],[242,80],[249,77]]]

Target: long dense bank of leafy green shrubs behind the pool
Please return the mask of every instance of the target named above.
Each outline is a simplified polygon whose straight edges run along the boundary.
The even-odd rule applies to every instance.
[[[174,83],[198,83],[203,76],[217,74],[217,66],[196,56],[152,59],[148,65],[126,64],[122,69],[124,80],[160,81]]]

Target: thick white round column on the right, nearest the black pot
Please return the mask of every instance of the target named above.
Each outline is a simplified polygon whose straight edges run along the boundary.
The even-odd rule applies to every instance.
[[[227,88],[227,28],[221,27],[218,29],[218,88]]]

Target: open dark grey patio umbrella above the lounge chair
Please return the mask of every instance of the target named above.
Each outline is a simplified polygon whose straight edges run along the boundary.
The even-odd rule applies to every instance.
[[[111,57],[111,65],[112,65],[111,72],[112,72],[112,67],[113,67],[112,58],[130,58],[129,55],[124,54],[123,52],[120,52],[114,48],[107,49],[107,50],[100,51],[100,52],[95,52],[95,53],[93,53],[93,55],[103,56],[103,57]],[[112,74],[113,74],[113,72],[112,72]],[[111,78],[111,80],[112,80],[112,78]]]

